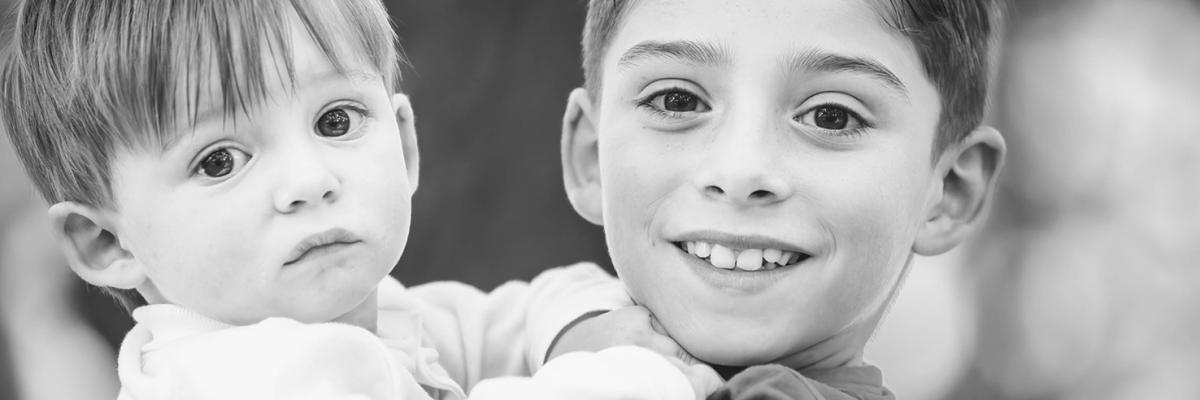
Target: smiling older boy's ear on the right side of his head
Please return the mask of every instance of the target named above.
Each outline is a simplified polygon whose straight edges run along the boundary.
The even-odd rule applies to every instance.
[[[913,251],[936,256],[954,249],[986,220],[996,178],[1004,165],[1004,138],[980,126],[942,151],[934,172],[940,177],[930,193]]]

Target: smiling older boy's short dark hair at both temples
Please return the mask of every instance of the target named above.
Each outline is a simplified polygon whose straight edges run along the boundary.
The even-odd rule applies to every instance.
[[[638,0],[589,0],[583,26],[583,78],[599,98],[604,54],[624,14]],[[925,74],[942,98],[934,154],[983,123],[989,48],[1003,0],[876,0],[883,23],[917,48]]]

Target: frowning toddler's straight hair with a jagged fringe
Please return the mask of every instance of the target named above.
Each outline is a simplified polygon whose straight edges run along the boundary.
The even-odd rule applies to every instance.
[[[112,205],[115,149],[166,143],[206,95],[226,115],[246,112],[276,84],[268,68],[295,79],[293,14],[338,70],[358,58],[398,89],[402,54],[378,0],[26,0],[0,67],[4,130],[48,202]]]

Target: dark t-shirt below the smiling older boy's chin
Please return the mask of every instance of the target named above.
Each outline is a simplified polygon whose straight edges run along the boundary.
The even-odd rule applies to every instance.
[[[708,400],[895,400],[870,365],[805,370],[757,365],[738,372]]]

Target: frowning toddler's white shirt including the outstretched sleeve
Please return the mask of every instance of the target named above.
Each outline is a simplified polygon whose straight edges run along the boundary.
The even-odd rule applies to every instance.
[[[119,399],[462,399],[481,380],[529,376],[577,317],[630,304],[594,264],[490,293],[385,279],[378,329],[268,318],[234,327],[170,304],[133,311]]]

